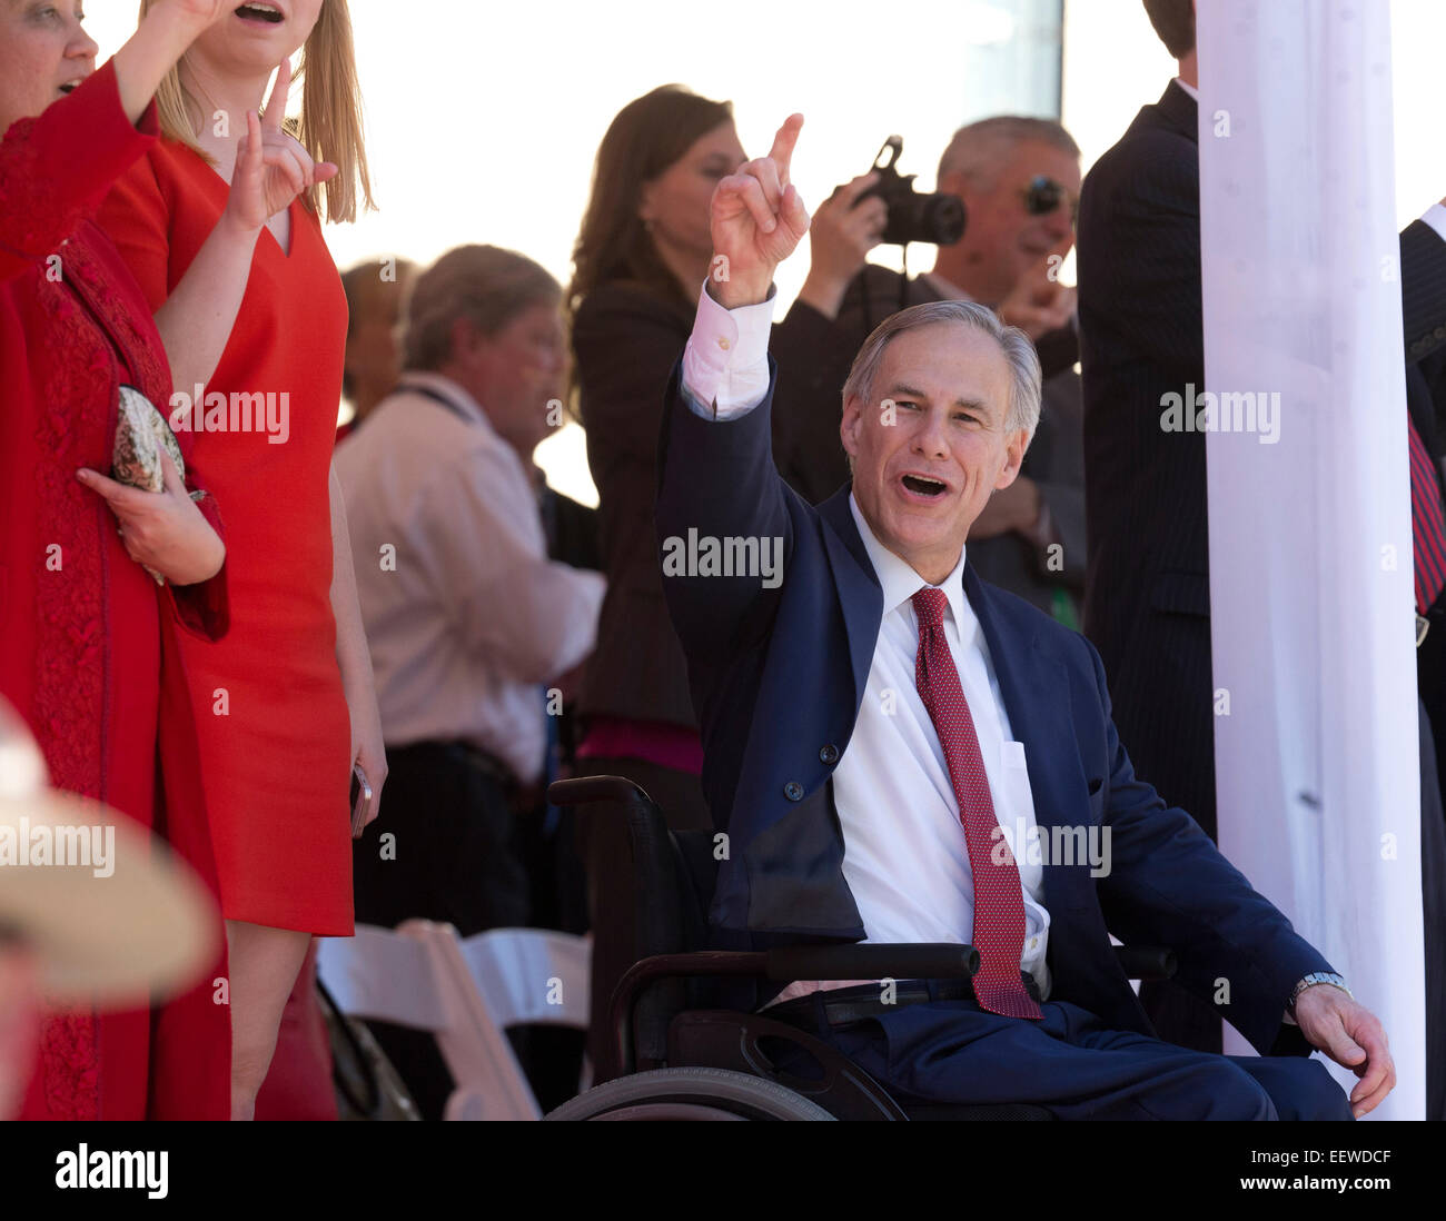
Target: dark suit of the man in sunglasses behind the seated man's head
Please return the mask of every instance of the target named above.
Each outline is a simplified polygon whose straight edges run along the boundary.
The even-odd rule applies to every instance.
[[[820,353],[801,376],[810,380],[810,393],[791,394],[774,415],[774,455],[778,471],[790,487],[810,504],[820,504],[849,480],[849,462],[839,439],[843,413],[843,383],[855,354],[873,328],[894,314],[904,277],[875,264],[866,266],[839,306],[834,318],[837,347]],[[943,301],[924,276],[908,282],[902,305]],[[1047,568],[1047,558],[1028,539],[1012,530],[988,539],[972,539],[969,561],[979,575],[1053,611],[1060,595],[1069,614],[1077,617],[1079,597],[1084,591],[1084,446],[1083,399],[1074,364],[1079,341],[1071,327],[1041,335],[1035,344],[1044,367],[1044,399],[1040,426],[1024,455],[1021,474],[1034,480],[1048,506],[1061,551],[1061,568]],[[788,367],[788,353],[775,353],[779,381],[790,384],[795,371]],[[817,384],[827,380],[827,386]],[[831,389],[831,394],[829,390]]]

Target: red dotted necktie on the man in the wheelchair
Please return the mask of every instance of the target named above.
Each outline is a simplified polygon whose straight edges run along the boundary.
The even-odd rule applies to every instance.
[[[989,795],[989,777],[979,754],[975,718],[969,714],[959,670],[944,639],[943,590],[925,585],[914,595],[918,618],[918,655],[914,681],[928,709],[930,720],[944,747],[949,779],[959,801],[964,825],[969,867],[975,874],[975,949],[979,974],[973,978],[975,996],[983,1009],[1005,1017],[1043,1017],[1040,1006],[1025,991],[1019,977],[1024,951],[1024,892],[1019,870],[1008,844],[999,837],[999,822]],[[1002,844],[1004,864],[993,860],[995,844]]]

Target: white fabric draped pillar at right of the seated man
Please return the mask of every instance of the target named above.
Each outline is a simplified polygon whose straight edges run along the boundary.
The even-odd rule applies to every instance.
[[[1375,1117],[1420,1118],[1390,7],[1197,12],[1206,386],[1255,399],[1254,419],[1218,400],[1206,438],[1220,847],[1385,1024],[1398,1084]]]

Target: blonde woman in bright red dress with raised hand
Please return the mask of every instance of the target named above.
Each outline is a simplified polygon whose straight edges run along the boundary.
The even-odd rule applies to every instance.
[[[279,110],[289,58],[304,43],[309,87],[301,142],[291,142],[294,181],[327,181],[314,172],[325,152],[340,166],[327,169],[327,217],[353,220],[359,194],[370,204],[346,3],[278,0],[273,9],[275,20],[237,9],[187,52],[159,94],[168,139],[101,211],[159,311],[168,350],[174,334],[175,351],[185,351],[191,312],[162,306],[205,257],[226,205],[240,134],[230,116],[260,104],[278,64]],[[268,230],[214,376],[205,361],[172,355],[178,387],[208,381],[204,412],[195,410],[195,464],[227,510],[233,627],[217,643],[184,642],[182,653],[227,919],[236,1118],[253,1114],[311,935],[353,932],[351,767],[360,763],[373,792],[364,821],[386,776],[346,514],[330,474],[346,298],[311,197],[272,215]],[[239,413],[239,402],[252,410]]]

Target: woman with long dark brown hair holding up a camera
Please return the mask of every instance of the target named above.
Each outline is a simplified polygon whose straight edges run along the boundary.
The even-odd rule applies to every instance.
[[[565,302],[607,574],[597,649],[578,698],[578,770],[636,782],[675,829],[711,822],[683,646],[664,604],[654,538],[658,429],[698,292],[709,275],[724,273],[711,264],[709,199],[717,181],[746,160],[730,103],[662,85],[623,107],[597,152]],[[808,279],[769,341],[781,370],[775,441],[778,428],[813,402],[807,396],[839,403],[842,386],[829,376],[836,361],[820,355],[846,342],[833,318],[884,230],[881,199],[855,207],[872,184],[873,175],[856,178],[814,217]],[[603,1081],[612,1072],[603,1039],[607,1001],[635,957],[632,861],[615,811],[578,818],[593,918],[589,1040]]]

